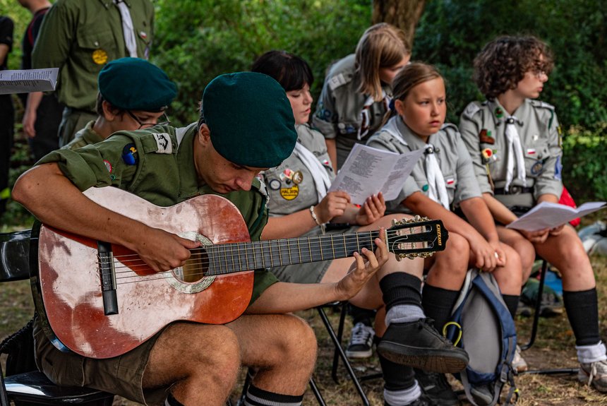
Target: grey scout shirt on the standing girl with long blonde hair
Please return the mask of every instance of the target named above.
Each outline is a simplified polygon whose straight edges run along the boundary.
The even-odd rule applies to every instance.
[[[356,56],[351,54],[331,66],[323,90],[320,92],[316,112],[312,117],[313,126],[325,138],[335,138],[337,148],[337,168],[342,167],[355,143],[364,143],[364,139],[379,129],[387,111],[387,101],[373,102],[366,108],[365,125],[361,113],[368,95],[359,92],[361,84],[354,61]],[[392,96],[390,86],[383,86],[386,98]],[[361,133],[359,140],[359,130]]]

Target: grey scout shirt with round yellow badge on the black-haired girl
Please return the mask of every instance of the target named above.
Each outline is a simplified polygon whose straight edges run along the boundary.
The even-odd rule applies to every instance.
[[[311,129],[307,124],[299,124],[295,129],[297,142],[318,158],[331,181],[335,179],[323,134]],[[270,196],[268,209],[271,216],[289,215],[318,204],[316,184],[312,175],[295,153],[280,166],[264,171],[260,177]]]

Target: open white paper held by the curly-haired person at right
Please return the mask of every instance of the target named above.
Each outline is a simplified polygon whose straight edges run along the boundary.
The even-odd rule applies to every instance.
[[[606,202],[588,202],[579,206],[579,208],[572,208],[568,205],[542,202],[517,220],[511,222],[506,228],[524,229],[527,231],[554,228],[564,225],[577,217],[600,210],[606,204]]]

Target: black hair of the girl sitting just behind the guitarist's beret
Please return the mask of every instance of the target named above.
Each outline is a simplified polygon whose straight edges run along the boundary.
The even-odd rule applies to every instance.
[[[299,90],[306,84],[311,86],[314,81],[308,63],[286,51],[266,52],[253,62],[251,71],[265,73],[274,78],[285,92]]]

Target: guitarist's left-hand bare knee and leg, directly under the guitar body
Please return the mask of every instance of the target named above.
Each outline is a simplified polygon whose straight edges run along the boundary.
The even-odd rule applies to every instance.
[[[238,345],[226,326],[174,323],[152,348],[143,388],[173,385],[186,406],[224,405],[240,368]]]

